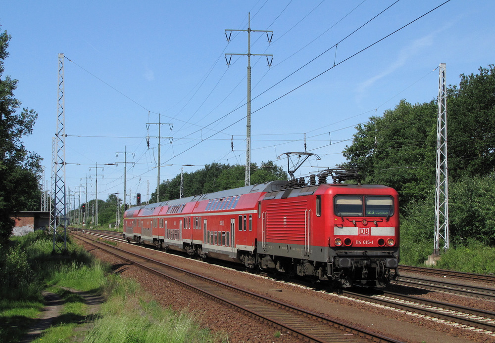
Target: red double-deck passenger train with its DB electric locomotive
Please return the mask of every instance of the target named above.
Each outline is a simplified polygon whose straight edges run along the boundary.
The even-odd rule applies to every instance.
[[[385,286],[397,275],[397,192],[319,181],[271,181],[136,206],[124,214],[124,239],[342,287]]]

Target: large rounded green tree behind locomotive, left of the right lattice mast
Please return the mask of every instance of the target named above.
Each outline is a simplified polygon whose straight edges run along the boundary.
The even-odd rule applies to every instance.
[[[351,146],[343,151],[363,183],[395,188],[401,201],[423,199],[435,186],[436,119],[434,101],[411,105],[401,100],[382,117],[359,125]]]

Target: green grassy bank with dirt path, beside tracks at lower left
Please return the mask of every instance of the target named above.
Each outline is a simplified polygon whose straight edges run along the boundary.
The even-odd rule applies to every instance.
[[[200,329],[194,316],[163,309],[139,284],[112,274],[84,249],[68,243],[68,258],[51,256],[51,236],[43,232],[15,238],[0,252],[0,342],[17,342],[44,305],[42,290],[65,300],[60,315],[36,342],[228,342]],[[87,316],[83,299],[66,288],[102,294],[107,299],[97,316]],[[74,329],[95,319],[87,332]]]

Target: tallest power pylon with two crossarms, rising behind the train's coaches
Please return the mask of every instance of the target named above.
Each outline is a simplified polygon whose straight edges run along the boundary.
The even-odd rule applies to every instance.
[[[227,35],[227,31],[230,31],[229,35]],[[271,67],[273,61],[272,54],[251,53],[251,32],[266,32],[268,43],[271,43],[273,37],[273,31],[251,30],[251,13],[248,13],[247,30],[230,30],[230,29],[225,30],[225,37],[227,38],[227,42],[230,42],[230,37],[232,36],[233,31],[247,32],[247,53],[225,54],[225,60],[227,62],[227,65],[230,65],[232,55],[247,56],[246,176],[244,181],[245,186],[247,186],[251,184],[251,56],[266,56],[266,61],[268,62],[269,67]],[[268,36],[268,33],[271,33],[271,36]],[[227,55],[230,55],[230,59],[227,59]],[[268,56],[271,56],[272,59],[268,60]]]

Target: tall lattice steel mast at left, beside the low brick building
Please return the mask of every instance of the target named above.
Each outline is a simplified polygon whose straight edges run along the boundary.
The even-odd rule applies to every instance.
[[[52,254],[67,253],[67,213],[65,203],[65,99],[64,99],[64,54],[58,54],[58,103],[57,126],[52,146],[52,182],[54,209],[50,211],[50,226],[53,233]]]

